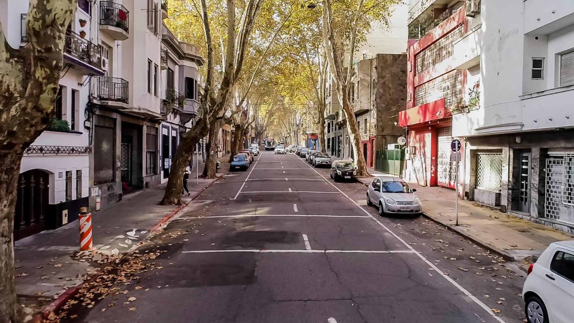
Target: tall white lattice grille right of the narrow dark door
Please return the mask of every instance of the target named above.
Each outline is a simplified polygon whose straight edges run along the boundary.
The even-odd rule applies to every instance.
[[[546,201],[544,216],[550,219],[560,219],[560,206],[563,200],[564,158],[553,157],[546,159]]]

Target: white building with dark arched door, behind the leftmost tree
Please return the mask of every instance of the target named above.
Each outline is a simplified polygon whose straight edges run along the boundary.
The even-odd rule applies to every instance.
[[[3,32],[13,48],[29,41],[25,25],[28,8],[28,1],[0,2]],[[105,74],[94,10],[92,2],[78,2],[65,34],[56,114],[22,158],[14,220],[16,240],[73,221],[80,207],[88,205],[92,137],[86,113],[90,109],[90,84]]]

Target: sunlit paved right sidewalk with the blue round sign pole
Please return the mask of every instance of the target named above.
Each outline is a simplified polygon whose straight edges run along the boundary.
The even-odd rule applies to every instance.
[[[380,173],[371,171],[378,176]],[[360,177],[368,185],[371,177]],[[459,226],[456,224],[455,191],[440,187],[425,187],[409,183],[417,189],[425,217],[443,224],[476,244],[497,252],[508,260],[522,260],[538,256],[552,242],[572,240],[574,236],[545,225],[536,224],[517,216],[459,200]]]

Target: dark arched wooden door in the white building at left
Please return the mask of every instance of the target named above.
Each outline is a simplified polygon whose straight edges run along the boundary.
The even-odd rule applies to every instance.
[[[14,240],[44,230],[48,208],[48,180],[49,174],[38,169],[29,170],[18,177]]]

